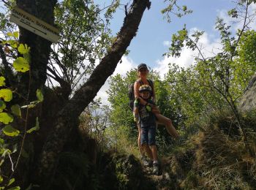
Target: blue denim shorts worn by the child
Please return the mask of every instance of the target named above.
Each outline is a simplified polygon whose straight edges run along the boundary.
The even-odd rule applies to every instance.
[[[141,145],[156,145],[156,126],[141,126]]]

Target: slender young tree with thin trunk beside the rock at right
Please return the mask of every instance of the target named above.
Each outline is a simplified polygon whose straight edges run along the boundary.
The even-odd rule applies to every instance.
[[[248,12],[249,5],[253,2],[255,1],[237,1],[236,9],[228,12],[230,17],[242,20],[242,26],[236,31],[236,35],[232,34],[231,26],[228,26],[223,19],[217,18],[216,28],[220,33],[222,50],[215,53],[214,56],[207,58],[203,54],[203,48],[198,43],[203,32],[196,31],[189,35],[185,27],[178,31],[178,34],[173,35],[170,54],[167,53],[167,55],[180,56],[181,48],[184,46],[197,50],[197,64],[195,69],[192,70],[197,75],[197,83],[200,88],[204,88],[208,93],[217,94],[221,98],[219,100],[224,100],[233,110],[245,142],[247,141],[246,132],[243,123],[241,123],[237,102],[245,90],[246,86],[244,84],[249,83],[249,78],[255,72],[255,66],[251,64],[253,60],[252,53],[254,52],[254,48],[252,48],[254,31],[249,31],[249,23],[252,22],[256,12]],[[246,39],[246,37],[248,38]],[[244,42],[246,45],[244,45]],[[249,49],[248,54],[244,52],[245,46]],[[248,55],[248,61],[244,60],[246,54]],[[241,78],[241,74],[243,78]],[[248,150],[250,149],[248,148]]]

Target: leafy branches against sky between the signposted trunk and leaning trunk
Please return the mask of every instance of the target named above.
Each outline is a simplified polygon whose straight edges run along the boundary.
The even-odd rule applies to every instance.
[[[49,83],[56,80],[63,85],[65,81],[74,90],[87,80],[112,42],[109,24],[118,5],[119,1],[112,1],[101,9],[91,0],[65,0],[56,5],[55,22],[61,38],[51,50]]]

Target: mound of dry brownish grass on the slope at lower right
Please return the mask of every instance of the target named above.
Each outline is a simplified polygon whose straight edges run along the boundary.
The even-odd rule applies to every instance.
[[[241,117],[249,148],[230,113],[212,115],[178,152],[163,159],[175,189],[256,189],[256,117]]]

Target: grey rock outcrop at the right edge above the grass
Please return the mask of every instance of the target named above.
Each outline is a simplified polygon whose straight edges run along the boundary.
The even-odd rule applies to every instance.
[[[244,95],[241,97],[238,108],[241,111],[256,109],[256,74],[252,77]]]

